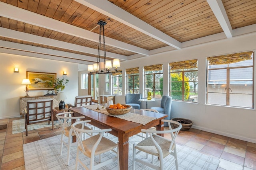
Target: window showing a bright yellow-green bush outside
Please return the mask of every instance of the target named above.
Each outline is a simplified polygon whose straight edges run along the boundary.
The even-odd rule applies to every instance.
[[[170,96],[172,100],[197,102],[197,60],[179,61],[170,65]]]

